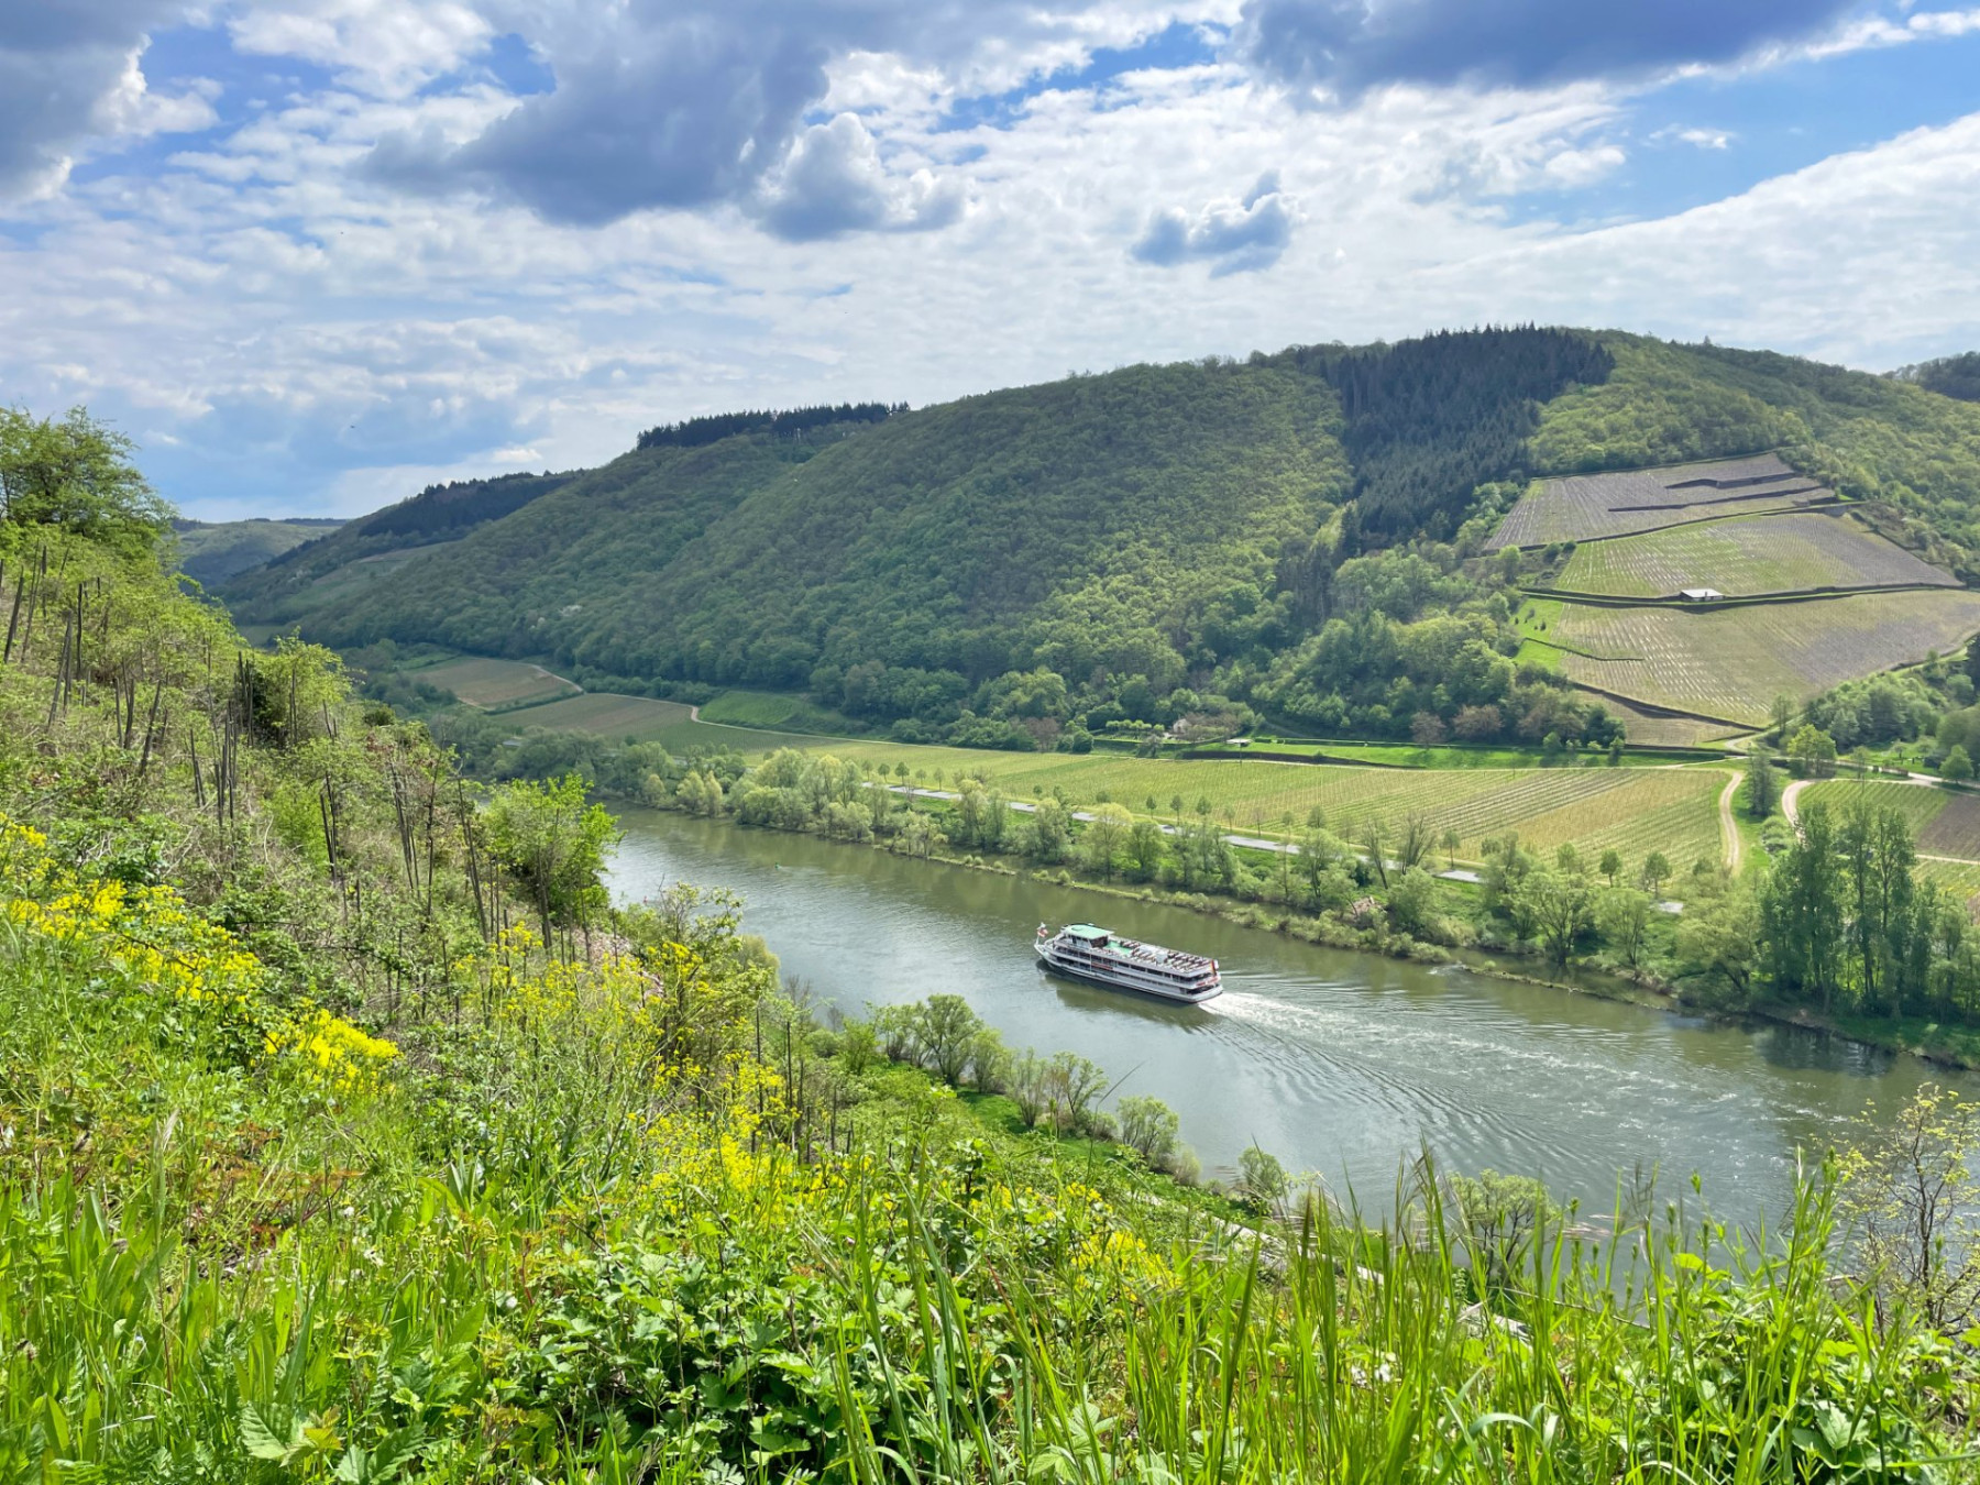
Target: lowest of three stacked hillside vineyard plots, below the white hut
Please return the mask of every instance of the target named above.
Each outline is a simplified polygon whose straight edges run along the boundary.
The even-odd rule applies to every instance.
[[[1560,671],[1659,707],[1760,725],[1772,697],[1950,651],[1980,630],[1980,594],[1847,594],[1687,612],[1562,604],[1546,626]],[[1580,651],[1580,653],[1574,653]]]

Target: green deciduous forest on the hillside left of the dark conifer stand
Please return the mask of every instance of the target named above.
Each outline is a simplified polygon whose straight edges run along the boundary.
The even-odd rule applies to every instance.
[[[1333,418],[1297,372],[1137,366],[895,416],[816,455],[748,434],[644,449],[321,624],[616,675],[802,687],[879,661],[974,687],[1099,665],[1168,691],[1283,632],[1281,548],[1346,485]]]

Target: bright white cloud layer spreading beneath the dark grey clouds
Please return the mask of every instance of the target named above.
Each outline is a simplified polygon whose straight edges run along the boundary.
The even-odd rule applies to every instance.
[[[1596,232],[1548,212],[1626,164],[1630,97],[1606,83],[1396,85],[1323,111],[1220,59],[1034,91],[1000,127],[944,123],[958,89],[1180,12],[1004,10],[915,53],[843,50],[735,192],[596,226],[358,168],[384,137],[438,158],[515,111],[459,71],[517,24],[493,0],[236,16],[244,48],[307,50],[335,81],[220,131],[210,89],[133,81],[133,44],[91,107],[210,133],[0,218],[0,382],[147,430],[196,513],[350,513],[430,479],[600,461],[697,412],[921,404],[1437,325],[1614,323],[1869,366],[1980,343],[1980,115]],[[384,30],[366,55],[368,18]],[[81,127],[63,148],[111,125]],[[1661,139],[1721,147],[1709,129]]]

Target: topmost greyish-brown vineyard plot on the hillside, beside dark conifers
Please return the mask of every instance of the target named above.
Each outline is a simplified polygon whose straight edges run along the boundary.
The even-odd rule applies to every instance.
[[[1507,511],[1493,546],[1544,546],[1657,531],[1717,515],[1792,511],[1833,499],[1772,453],[1750,459],[1540,479]]]

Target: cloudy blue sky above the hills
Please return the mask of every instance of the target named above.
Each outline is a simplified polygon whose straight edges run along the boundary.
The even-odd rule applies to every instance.
[[[194,517],[1525,321],[1980,348],[1980,8],[0,6],[0,400]]]

